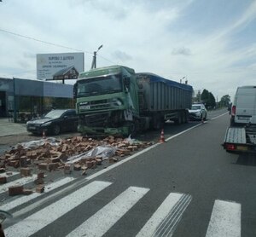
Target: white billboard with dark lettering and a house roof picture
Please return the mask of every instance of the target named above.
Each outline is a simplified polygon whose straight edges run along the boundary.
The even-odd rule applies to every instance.
[[[78,72],[84,72],[84,53],[38,54],[37,78],[52,79],[56,72],[74,66]]]

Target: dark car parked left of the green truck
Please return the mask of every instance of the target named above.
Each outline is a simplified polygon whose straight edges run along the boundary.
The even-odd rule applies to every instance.
[[[58,135],[61,132],[76,131],[79,117],[74,109],[54,109],[44,117],[26,122],[26,130],[33,134]]]

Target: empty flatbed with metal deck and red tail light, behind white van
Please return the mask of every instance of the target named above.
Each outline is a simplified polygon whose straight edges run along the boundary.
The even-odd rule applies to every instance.
[[[244,127],[229,127],[222,146],[227,152],[256,153],[256,144],[251,142]]]

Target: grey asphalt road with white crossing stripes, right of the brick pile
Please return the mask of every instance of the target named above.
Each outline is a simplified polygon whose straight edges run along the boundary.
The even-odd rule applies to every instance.
[[[255,236],[256,159],[224,151],[221,113],[166,124],[165,143],[33,199],[7,199],[7,236]]]

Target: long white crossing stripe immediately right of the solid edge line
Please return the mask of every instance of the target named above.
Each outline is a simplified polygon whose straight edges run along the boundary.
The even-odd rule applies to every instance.
[[[24,220],[16,223],[4,230],[6,236],[30,236],[38,232],[38,230],[46,227],[59,217],[65,215],[68,211],[81,205],[87,199],[102,191],[111,185],[112,182],[95,181],[79,190],[67,195],[66,197],[56,201],[55,203],[44,207],[44,209],[26,217]]]

